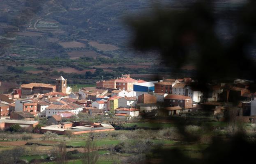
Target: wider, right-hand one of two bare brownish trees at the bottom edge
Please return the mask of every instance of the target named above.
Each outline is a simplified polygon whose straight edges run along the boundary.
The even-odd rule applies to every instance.
[[[83,164],[96,164],[99,159],[99,153],[95,142],[90,140],[86,141],[82,163]]]

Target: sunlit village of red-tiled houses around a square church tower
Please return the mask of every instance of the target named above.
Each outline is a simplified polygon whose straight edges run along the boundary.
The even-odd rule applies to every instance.
[[[249,131],[254,132],[256,93],[249,90],[254,86],[253,81],[235,79],[232,83],[212,82],[208,84],[207,90],[195,89],[195,84],[197,81],[189,77],[146,82],[133,79],[129,74],[110,80],[99,80],[95,82],[95,87],[83,87],[78,92],[72,92],[72,88],[68,87],[68,79],[62,76],[56,78],[55,84],[21,84],[12,93],[0,95],[0,138],[3,141],[0,149],[8,146],[10,141],[15,142],[14,136],[23,134],[22,139],[30,136],[26,139],[26,144],[32,142],[31,144],[39,145],[38,139],[31,138],[32,134],[34,137],[39,135],[42,141],[56,142],[55,145],[64,140],[67,147],[72,148],[84,147],[86,138],[89,138],[91,141],[104,142],[104,146],[99,147],[104,147],[104,152],[111,150],[112,153],[118,153],[116,146],[120,141],[132,139],[141,142],[140,139],[148,137],[146,134],[150,132],[154,132],[152,136],[155,137],[146,139],[150,139],[152,143],[176,145],[183,139],[173,129],[175,125],[185,123],[185,128],[191,128],[195,132],[194,128],[200,127],[198,125],[203,121],[219,130],[218,135],[228,137],[239,132],[241,128],[237,125],[232,127],[226,120],[231,116],[236,120],[235,124],[243,123],[244,130],[248,130],[249,125]],[[159,132],[163,130],[165,133],[161,136]],[[171,133],[166,133],[166,130],[171,130]],[[131,134],[126,131],[136,135],[142,132],[143,136],[127,138]],[[4,135],[8,132],[14,138]],[[106,140],[108,134],[112,137],[120,135],[125,139],[118,138],[114,143],[117,145],[111,149],[105,148],[115,141],[115,137]],[[105,138],[99,137],[102,135]],[[85,140],[81,140],[82,137]],[[19,137],[15,139],[18,142]],[[201,136],[199,140],[202,139],[200,143],[209,142]],[[79,144],[74,144],[74,141]],[[46,151],[41,153],[45,154]],[[193,153],[197,157],[198,152]],[[54,158],[51,160],[54,161]],[[109,160],[107,159],[108,162]],[[105,159],[104,161],[106,162]]]

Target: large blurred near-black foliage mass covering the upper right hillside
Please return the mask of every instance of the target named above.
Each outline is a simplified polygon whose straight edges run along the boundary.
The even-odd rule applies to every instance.
[[[216,13],[213,2],[192,3],[185,9],[155,9],[150,16],[129,19],[134,47],[159,50],[167,66],[194,64],[201,87],[215,79],[255,80],[249,47],[255,44],[256,1],[236,10]],[[232,21],[233,38],[223,42],[216,34],[219,19]]]

